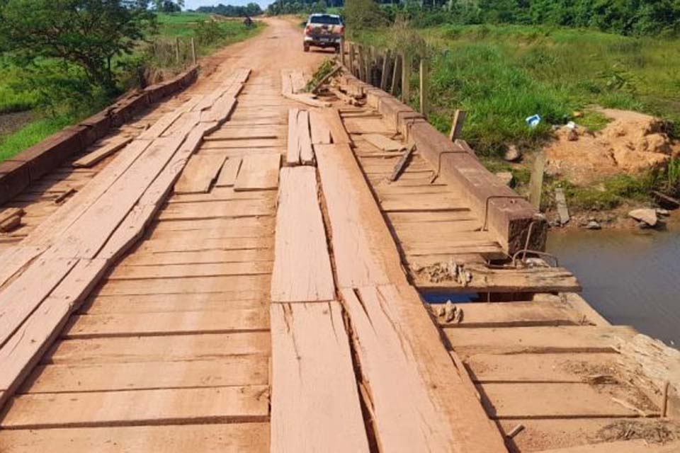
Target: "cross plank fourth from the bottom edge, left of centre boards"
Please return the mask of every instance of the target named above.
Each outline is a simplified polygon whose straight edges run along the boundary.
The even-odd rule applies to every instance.
[[[47,355],[45,362],[77,365],[176,362],[270,353],[271,337],[268,332],[84,338],[60,341]]]

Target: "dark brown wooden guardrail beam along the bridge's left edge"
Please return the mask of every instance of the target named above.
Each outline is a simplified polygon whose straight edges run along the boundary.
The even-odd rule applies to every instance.
[[[111,127],[122,125],[149,105],[191,85],[197,76],[198,67],[194,66],[172,79],[128,93],[96,115],[52,134],[12,159],[0,162],[0,203],[11,200],[69,156],[84,151],[106,135]]]

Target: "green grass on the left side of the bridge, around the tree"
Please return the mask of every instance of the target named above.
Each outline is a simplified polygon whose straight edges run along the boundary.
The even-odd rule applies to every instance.
[[[203,13],[159,14],[158,33],[149,37],[149,40],[154,40],[159,44],[157,46],[159,54],[147,58],[147,55],[143,53],[145,50],[140,47],[139,55],[133,56],[132,59],[145,60],[145,64],[150,62],[157,69],[179,71],[183,64],[178,65],[175,61],[174,42],[176,38],[181,41],[185,57],[188,56],[188,42],[191,38],[196,39],[199,55],[210,55],[220,47],[250,38],[259,33],[264,26],[246,28],[241,21],[220,21],[212,24],[212,26],[202,26],[202,23],[209,18],[210,15]],[[35,108],[33,93],[16,91],[13,88],[18,77],[21,77],[21,71],[0,59],[0,115]],[[59,131],[62,127],[95,113],[102,108],[101,100],[96,104],[81,105],[76,111],[57,110],[50,115],[38,112],[35,115],[37,119],[29,122],[21,129],[4,136],[0,135],[0,161],[11,158],[23,149]]]

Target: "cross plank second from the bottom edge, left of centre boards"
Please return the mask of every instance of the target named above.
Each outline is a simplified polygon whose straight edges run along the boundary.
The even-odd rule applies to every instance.
[[[69,428],[266,421],[266,386],[28,394],[12,401],[2,428]],[[68,407],[69,411],[64,411]]]

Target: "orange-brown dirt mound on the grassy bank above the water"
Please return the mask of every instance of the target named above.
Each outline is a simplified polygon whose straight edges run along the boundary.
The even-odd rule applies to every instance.
[[[557,130],[546,148],[547,171],[577,185],[620,173],[640,174],[665,166],[680,147],[669,139],[658,118],[628,110],[597,110],[611,122],[594,134],[583,127]]]

